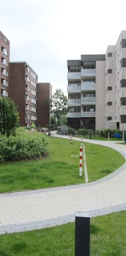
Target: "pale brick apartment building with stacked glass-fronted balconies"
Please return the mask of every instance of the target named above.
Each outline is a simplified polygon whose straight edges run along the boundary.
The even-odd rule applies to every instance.
[[[126,129],[126,31],[106,54],[67,61],[68,126]]]

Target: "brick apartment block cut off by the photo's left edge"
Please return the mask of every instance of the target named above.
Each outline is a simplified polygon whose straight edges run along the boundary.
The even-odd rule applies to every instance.
[[[10,42],[0,31],[0,95],[9,96]]]

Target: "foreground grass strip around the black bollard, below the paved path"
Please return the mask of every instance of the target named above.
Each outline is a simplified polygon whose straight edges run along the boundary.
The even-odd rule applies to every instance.
[[[0,235],[0,256],[74,256],[75,224]],[[126,256],[126,211],[91,218],[90,256]]]

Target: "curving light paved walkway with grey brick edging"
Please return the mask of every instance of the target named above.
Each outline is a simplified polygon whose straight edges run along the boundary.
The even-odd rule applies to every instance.
[[[80,139],[74,137],[74,140]],[[125,145],[110,141],[83,141],[115,148],[126,159]],[[114,173],[92,183],[0,194],[0,233],[74,221],[76,211],[88,211],[92,217],[123,209],[126,209],[126,163]]]

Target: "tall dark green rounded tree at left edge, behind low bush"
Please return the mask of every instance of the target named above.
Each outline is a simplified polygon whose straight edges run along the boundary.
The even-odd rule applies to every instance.
[[[0,98],[0,132],[10,136],[14,135],[19,122],[19,113],[14,101],[6,98]]]

